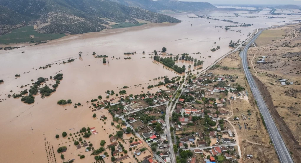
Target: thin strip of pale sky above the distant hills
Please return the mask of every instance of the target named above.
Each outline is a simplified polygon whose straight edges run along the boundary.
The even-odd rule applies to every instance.
[[[209,2],[211,4],[249,4],[249,5],[301,5],[301,0],[180,0]]]

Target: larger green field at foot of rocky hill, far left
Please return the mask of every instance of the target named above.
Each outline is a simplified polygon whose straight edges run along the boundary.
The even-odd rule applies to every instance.
[[[30,35],[33,37],[30,38]],[[20,43],[20,42],[30,42],[30,41],[45,41],[45,40],[54,40],[61,37],[64,37],[65,34],[42,34],[36,32],[33,29],[33,26],[25,26],[20,29],[15,29],[6,35],[0,36],[0,44],[9,44],[9,43]]]

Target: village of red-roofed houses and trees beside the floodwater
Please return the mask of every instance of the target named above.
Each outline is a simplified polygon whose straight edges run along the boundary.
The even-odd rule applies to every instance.
[[[193,76],[189,79],[191,82],[183,87],[183,91],[176,90],[178,83],[170,83],[166,84],[166,90],[160,89],[156,93],[124,95],[91,103],[94,106],[93,113],[108,109],[113,121],[119,123],[116,128],[120,128],[124,134],[131,133],[135,136],[135,141],[131,138],[129,145],[122,145],[120,141],[118,143],[117,135],[110,136],[111,144],[107,148],[114,146],[113,149],[116,149],[112,152],[115,157],[112,161],[119,162],[132,157],[119,155],[124,150],[122,146],[128,146],[135,160],[141,163],[171,162],[171,150],[183,163],[237,162],[241,153],[234,125],[239,125],[239,129],[251,130],[248,124],[239,123],[240,119],[250,119],[250,111],[234,116],[230,107],[231,101],[236,99],[248,100],[248,92],[235,83],[238,78],[207,73],[199,77]],[[171,112],[171,125],[167,126],[166,107],[174,96],[179,99]],[[100,116],[102,119],[104,117]],[[167,138],[167,127],[172,133],[172,140]],[[170,146],[169,141],[174,142],[174,145]],[[142,158],[141,153],[146,151],[150,154]],[[101,157],[104,159],[106,155]],[[246,157],[252,158],[252,154]]]

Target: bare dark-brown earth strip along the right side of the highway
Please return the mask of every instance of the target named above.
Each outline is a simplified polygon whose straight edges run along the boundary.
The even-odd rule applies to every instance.
[[[293,152],[291,155],[293,157],[293,160],[297,163],[301,161],[301,156],[299,153],[301,153],[301,146],[299,145],[299,142],[295,139],[293,136],[293,133],[290,131],[290,128],[285,124],[284,120],[279,115],[278,111],[275,109],[272,97],[270,93],[268,92],[268,89],[266,86],[253,74],[253,79],[256,82],[256,85],[258,86],[260,93],[263,97],[265,97],[265,103],[267,104],[267,107],[269,111],[272,114],[272,117],[274,121],[276,122],[276,125],[284,139],[285,144],[287,145],[287,148],[290,150],[290,152]]]

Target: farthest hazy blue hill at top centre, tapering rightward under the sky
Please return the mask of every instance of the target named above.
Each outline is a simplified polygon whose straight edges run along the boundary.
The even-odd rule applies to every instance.
[[[200,11],[208,9],[216,9],[215,6],[208,2],[182,2],[177,0],[159,0],[158,3],[167,6],[168,8],[178,11]]]

